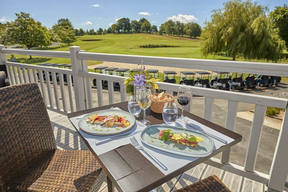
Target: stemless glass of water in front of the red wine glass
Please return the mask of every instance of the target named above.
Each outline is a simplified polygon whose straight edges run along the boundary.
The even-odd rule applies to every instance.
[[[178,117],[177,104],[174,102],[166,102],[163,107],[162,117],[168,125],[175,125]]]

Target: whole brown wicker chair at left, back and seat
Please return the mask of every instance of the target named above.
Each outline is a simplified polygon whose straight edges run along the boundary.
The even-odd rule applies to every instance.
[[[37,83],[0,89],[0,191],[98,191],[90,151],[57,150]]]

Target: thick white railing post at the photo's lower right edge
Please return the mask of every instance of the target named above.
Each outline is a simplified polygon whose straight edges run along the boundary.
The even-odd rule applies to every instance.
[[[274,189],[283,191],[288,174],[287,146],[288,146],[288,109],[285,110],[282,126],[278,136],[272,166],[269,174],[268,191]]]

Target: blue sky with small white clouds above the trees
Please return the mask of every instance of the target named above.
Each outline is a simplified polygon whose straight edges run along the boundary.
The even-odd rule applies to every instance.
[[[108,28],[118,18],[128,17],[130,20],[142,17],[151,24],[160,26],[168,19],[181,22],[197,22],[202,26],[205,19],[211,16],[211,10],[222,7],[223,0],[145,0],[145,1],[61,1],[61,0],[2,0],[0,6],[0,22],[14,20],[15,13],[27,12],[35,20],[46,27],[51,27],[60,18],[68,18],[75,28],[98,29]],[[287,0],[259,0],[262,5],[269,5],[270,11],[275,6],[288,3]]]

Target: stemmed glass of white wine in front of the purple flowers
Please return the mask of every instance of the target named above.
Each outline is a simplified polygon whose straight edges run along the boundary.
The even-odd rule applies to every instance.
[[[138,104],[139,107],[143,109],[143,120],[138,122],[138,125],[149,126],[151,125],[150,121],[145,119],[145,110],[151,105],[151,90],[149,89],[139,89],[138,92]]]

